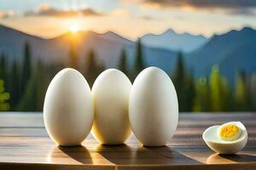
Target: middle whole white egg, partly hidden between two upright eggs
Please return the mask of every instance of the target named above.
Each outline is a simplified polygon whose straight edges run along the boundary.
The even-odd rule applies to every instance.
[[[128,117],[131,82],[116,69],[103,71],[92,87],[95,120],[92,133],[102,144],[123,144],[131,135]]]

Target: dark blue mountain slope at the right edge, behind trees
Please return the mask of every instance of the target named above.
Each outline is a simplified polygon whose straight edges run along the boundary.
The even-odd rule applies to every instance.
[[[237,71],[256,72],[256,31],[244,27],[215,35],[201,48],[187,54],[186,59],[196,77],[209,75],[212,65],[219,65],[222,75],[233,84]]]

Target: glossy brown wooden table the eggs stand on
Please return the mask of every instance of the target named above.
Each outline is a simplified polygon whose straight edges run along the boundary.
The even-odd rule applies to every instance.
[[[218,155],[201,138],[209,126],[241,121],[247,146]],[[180,114],[177,132],[164,147],[143,147],[134,136],[123,145],[101,145],[91,135],[80,147],[58,147],[48,137],[42,113],[0,113],[0,169],[256,169],[256,114]]]

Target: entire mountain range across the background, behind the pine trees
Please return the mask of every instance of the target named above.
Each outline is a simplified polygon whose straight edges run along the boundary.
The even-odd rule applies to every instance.
[[[59,37],[45,39],[0,26],[0,53],[8,55],[10,60],[20,61],[24,54],[24,44],[29,42],[34,61],[41,59],[45,63],[67,64],[70,41],[74,37],[81,65],[86,54],[93,49],[98,62],[102,62],[106,68],[116,68],[120,53],[125,48],[127,66],[133,66],[136,42],[112,31],[103,34],[79,31],[75,35],[68,32]],[[195,77],[208,76],[212,65],[219,65],[221,73],[230,82],[234,82],[237,71],[243,70],[247,74],[256,72],[256,31],[250,27],[211,38],[188,33],[177,34],[169,29],[159,36],[147,34],[141,39],[145,64],[158,66],[166,72],[172,72],[175,68],[178,51],[184,52],[185,64],[188,70],[195,72]]]

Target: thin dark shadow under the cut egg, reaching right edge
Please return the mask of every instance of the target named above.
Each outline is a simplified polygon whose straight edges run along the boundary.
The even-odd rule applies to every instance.
[[[230,160],[230,161],[236,161],[236,162],[252,162],[256,161],[256,156],[251,156],[247,154],[232,154],[232,155],[224,155],[224,154],[218,154],[218,156]]]

